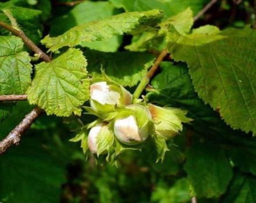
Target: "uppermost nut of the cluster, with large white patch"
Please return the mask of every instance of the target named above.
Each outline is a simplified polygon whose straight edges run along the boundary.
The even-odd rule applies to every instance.
[[[90,104],[95,111],[108,113],[115,107],[131,104],[132,96],[123,86],[114,82],[96,82],[90,85]]]

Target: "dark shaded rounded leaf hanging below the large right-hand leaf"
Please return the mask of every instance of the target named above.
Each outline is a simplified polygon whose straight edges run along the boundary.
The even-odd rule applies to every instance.
[[[225,152],[207,143],[190,148],[184,169],[198,197],[219,197],[233,175]]]

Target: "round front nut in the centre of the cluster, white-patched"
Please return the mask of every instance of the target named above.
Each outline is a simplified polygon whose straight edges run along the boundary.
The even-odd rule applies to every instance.
[[[151,114],[139,104],[131,104],[122,110],[114,122],[116,138],[123,144],[143,143],[152,132]]]

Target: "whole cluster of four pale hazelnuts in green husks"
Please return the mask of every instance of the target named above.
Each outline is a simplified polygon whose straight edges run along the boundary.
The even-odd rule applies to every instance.
[[[98,155],[98,136],[112,135],[117,142],[134,146],[150,136],[172,139],[182,131],[182,122],[191,121],[186,111],[178,108],[133,102],[131,93],[111,79],[90,85],[90,107],[86,109],[99,117],[90,125],[87,139],[91,153]]]

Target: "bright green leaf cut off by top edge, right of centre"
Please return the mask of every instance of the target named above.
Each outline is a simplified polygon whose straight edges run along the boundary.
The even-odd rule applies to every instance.
[[[110,0],[118,8],[129,11],[143,11],[151,9],[163,10],[165,17],[173,16],[188,7],[193,13],[198,13],[208,3],[207,0]]]

